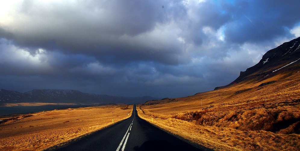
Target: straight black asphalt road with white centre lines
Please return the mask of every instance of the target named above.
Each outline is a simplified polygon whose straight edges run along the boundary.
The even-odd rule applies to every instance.
[[[194,144],[195,145],[195,144]],[[100,151],[193,151],[210,150],[194,146],[149,124],[138,117],[136,105],[130,118],[99,130],[79,140],[74,140],[61,148],[50,150],[100,150]]]

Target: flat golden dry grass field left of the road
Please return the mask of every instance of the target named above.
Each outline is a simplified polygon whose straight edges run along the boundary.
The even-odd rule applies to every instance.
[[[43,150],[126,119],[132,110],[132,105],[102,106],[14,117],[0,125],[0,150]]]

